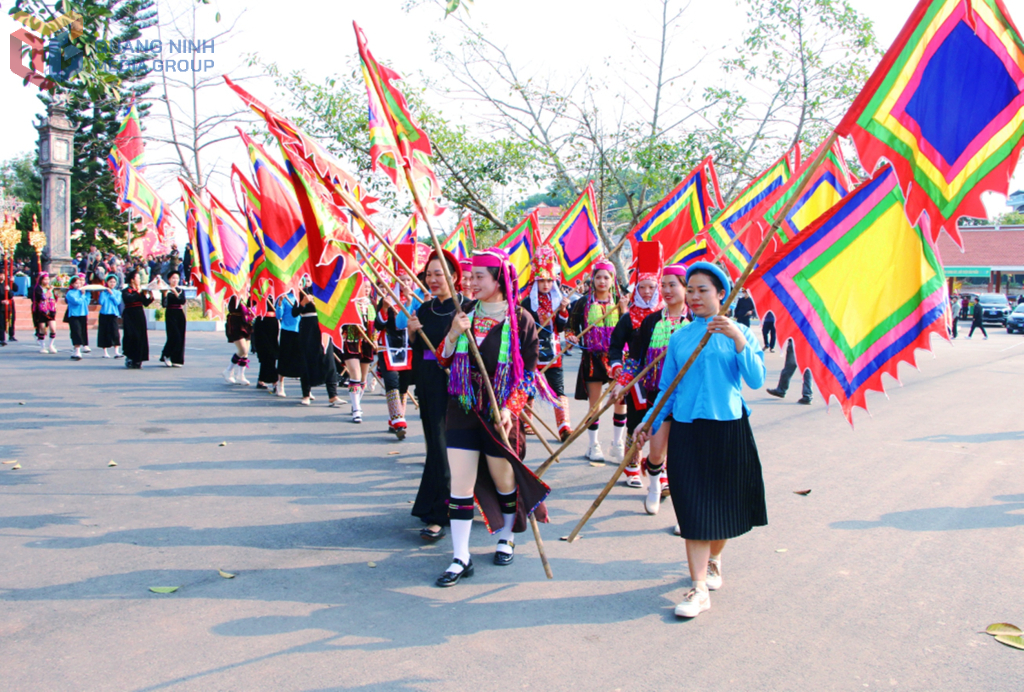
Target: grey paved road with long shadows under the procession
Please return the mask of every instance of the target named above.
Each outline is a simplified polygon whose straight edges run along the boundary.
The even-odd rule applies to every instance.
[[[229,387],[221,335],[189,336],[182,370],[8,346],[0,688],[1020,690],[1024,652],[978,634],[1024,626],[1024,338],[992,332],[922,353],[855,430],[751,393],[770,525],[692,621],[671,505],[620,487],[558,540],[610,473],[583,442],[548,477],[555,580],[527,540],[492,566],[477,524],[476,576],[442,591],[449,544],[409,516],[419,426],[394,441],[383,397],[355,426]]]

